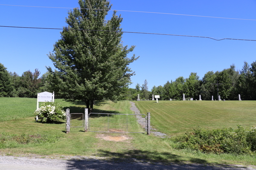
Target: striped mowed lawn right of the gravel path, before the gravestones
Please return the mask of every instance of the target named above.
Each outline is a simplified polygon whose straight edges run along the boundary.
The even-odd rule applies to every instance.
[[[256,126],[256,101],[134,101],[151,126],[170,136],[197,128]]]

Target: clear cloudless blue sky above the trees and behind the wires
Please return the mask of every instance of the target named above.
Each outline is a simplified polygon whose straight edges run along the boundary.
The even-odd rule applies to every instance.
[[[1,0],[0,4],[20,6],[78,7],[78,0]],[[180,34],[216,38],[256,40],[256,0],[111,0],[112,9],[242,18],[231,20],[171,14],[118,11],[123,31]],[[0,5],[0,26],[62,28],[66,26],[66,8],[32,8]],[[107,19],[112,15],[109,12]],[[41,75],[54,68],[47,57],[60,39],[61,30],[0,27],[0,62],[20,76],[38,68]],[[136,72],[131,88],[144,80],[148,88],[164,85],[167,80],[189,77],[200,79],[207,71],[222,71],[235,64],[241,70],[244,61],[256,61],[256,42],[148,34],[123,34],[123,45],[136,45],[133,54],[140,58],[130,65]]]

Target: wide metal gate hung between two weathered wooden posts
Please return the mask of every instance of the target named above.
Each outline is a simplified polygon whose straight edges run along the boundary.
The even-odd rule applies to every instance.
[[[137,116],[145,116],[140,119],[140,124],[137,122]],[[146,129],[147,117],[145,114],[90,113],[88,116],[90,132],[145,133]]]

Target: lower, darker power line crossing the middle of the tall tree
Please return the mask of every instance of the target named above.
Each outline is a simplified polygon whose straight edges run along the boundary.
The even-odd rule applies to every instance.
[[[10,27],[10,28],[33,28],[33,29],[57,29],[64,30],[64,28],[39,28],[39,27],[18,27],[18,26],[0,26],[0,27]],[[102,32],[116,32],[116,33],[134,33],[134,34],[154,34],[154,35],[170,35],[170,36],[182,36],[182,37],[197,37],[197,38],[209,38],[212,40],[244,40],[244,41],[256,41],[256,40],[246,40],[246,39],[235,39],[235,38],[222,38],[217,40],[212,37],[201,37],[201,36],[192,36],[192,35],[177,35],[177,34],[160,34],[160,33],[147,33],[147,32],[129,32],[129,31],[108,31],[108,30],[91,30],[91,29],[67,29],[67,30],[78,30],[78,31],[102,31]]]

